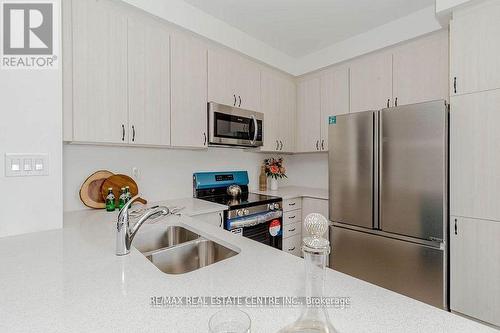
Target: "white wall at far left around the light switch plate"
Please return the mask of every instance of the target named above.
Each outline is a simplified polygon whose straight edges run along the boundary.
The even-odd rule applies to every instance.
[[[0,237],[62,227],[60,68],[0,69]],[[5,177],[5,153],[48,153],[49,176]]]

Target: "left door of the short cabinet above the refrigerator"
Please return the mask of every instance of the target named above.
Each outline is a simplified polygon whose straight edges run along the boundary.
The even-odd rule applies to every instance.
[[[381,52],[351,64],[351,112],[392,105],[392,54]]]

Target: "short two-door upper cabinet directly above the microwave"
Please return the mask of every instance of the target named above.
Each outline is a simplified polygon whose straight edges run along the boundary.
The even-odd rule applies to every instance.
[[[259,111],[259,66],[230,52],[210,49],[208,99],[210,102]]]

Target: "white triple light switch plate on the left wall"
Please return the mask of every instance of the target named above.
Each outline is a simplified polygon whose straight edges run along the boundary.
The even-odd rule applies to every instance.
[[[5,177],[48,175],[49,154],[5,154]]]

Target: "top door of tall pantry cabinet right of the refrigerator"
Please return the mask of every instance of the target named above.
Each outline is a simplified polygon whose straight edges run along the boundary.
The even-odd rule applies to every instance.
[[[453,13],[450,25],[451,95],[500,88],[498,36],[500,2],[489,1]]]

